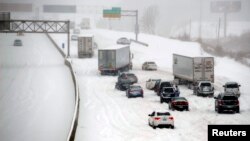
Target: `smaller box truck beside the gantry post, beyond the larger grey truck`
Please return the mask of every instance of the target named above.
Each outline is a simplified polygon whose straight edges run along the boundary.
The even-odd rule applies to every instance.
[[[93,35],[81,35],[78,36],[78,57],[90,58],[93,56],[94,36]]]

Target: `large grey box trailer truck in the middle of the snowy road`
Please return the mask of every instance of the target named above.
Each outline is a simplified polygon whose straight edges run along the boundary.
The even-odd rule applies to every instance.
[[[101,75],[117,75],[132,69],[131,59],[130,47],[127,45],[98,49],[98,69]]]

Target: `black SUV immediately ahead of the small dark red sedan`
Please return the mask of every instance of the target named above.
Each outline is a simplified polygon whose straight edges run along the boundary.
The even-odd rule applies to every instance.
[[[160,92],[160,102],[169,102],[173,97],[177,96],[173,87],[163,87]]]

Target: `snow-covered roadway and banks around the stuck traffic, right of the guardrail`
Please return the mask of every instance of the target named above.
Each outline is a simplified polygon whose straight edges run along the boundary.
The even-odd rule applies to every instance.
[[[134,38],[133,33],[108,30],[93,30],[99,48],[116,43],[120,37]],[[53,35],[60,45],[65,37]],[[55,37],[56,36],[56,37]],[[140,41],[149,47],[131,45],[134,54],[133,70],[139,84],[144,88],[144,98],[128,99],[125,92],[116,90],[117,77],[101,76],[97,69],[97,52],[93,58],[73,59],[80,87],[80,116],[76,141],[163,141],[163,140],[207,140],[208,124],[249,124],[250,123],[250,69],[229,58],[215,57],[216,94],[222,91],[226,81],[237,81],[241,87],[240,114],[217,114],[214,99],[197,97],[185,86],[180,86],[181,96],[188,99],[190,111],[170,111],[175,119],[175,129],[152,129],[148,126],[148,114],[154,109],[168,110],[166,103],[153,91],[145,89],[149,78],[173,80],[172,54],[203,56],[206,54],[197,43],[181,42],[162,37],[140,34]],[[74,42],[73,42],[74,43]],[[75,44],[75,43],[74,43]],[[75,44],[76,45],[76,44]],[[73,45],[72,56],[77,57]],[[142,71],[144,61],[155,61],[158,71]]]

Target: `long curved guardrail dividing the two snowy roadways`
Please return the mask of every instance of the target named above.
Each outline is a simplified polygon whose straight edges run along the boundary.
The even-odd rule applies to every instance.
[[[48,33],[46,34],[46,36],[54,44],[54,46],[60,52],[60,54],[65,58],[66,54],[60,49],[60,47],[56,44],[56,42],[52,39],[52,37]],[[73,82],[74,82],[74,86],[75,86],[74,115],[73,115],[73,118],[72,118],[70,131],[69,131],[68,136],[67,136],[67,141],[74,141],[75,140],[76,129],[77,129],[77,125],[78,125],[78,117],[79,117],[79,103],[80,103],[79,87],[78,87],[79,85],[78,85],[78,81],[76,79],[76,75],[74,73],[74,69],[72,67],[71,60],[65,58],[65,65],[68,66],[69,69],[70,69],[70,72],[71,72],[71,75],[72,75],[72,78],[73,78]]]

